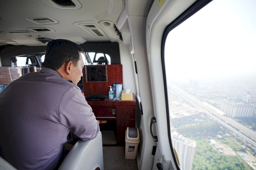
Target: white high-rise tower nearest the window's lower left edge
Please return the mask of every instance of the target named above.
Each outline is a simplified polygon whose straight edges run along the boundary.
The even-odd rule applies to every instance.
[[[174,132],[172,133],[172,145],[179,156],[181,169],[191,170],[196,150],[196,141]]]

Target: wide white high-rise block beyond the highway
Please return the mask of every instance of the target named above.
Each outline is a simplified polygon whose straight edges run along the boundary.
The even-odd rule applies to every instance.
[[[250,103],[222,102],[221,111],[228,117],[252,117],[254,105]]]

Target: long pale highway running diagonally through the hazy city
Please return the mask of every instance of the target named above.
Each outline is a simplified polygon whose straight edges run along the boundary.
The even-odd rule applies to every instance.
[[[231,132],[240,136],[244,141],[250,143],[256,148],[256,132],[247,128],[246,126],[234,121],[231,118],[225,117],[221,113],[221,110],[214,108],[213,106],[209,105],[206,102],[201,102],[196,97],[190,95],[186,91],[182,90],[181,88],[177,87],[171,82],[168,82],[168,87],[170,87],[173,91],[179,93],[184,98],[187,99],[190,104],[194,104],[199,106],[200,108],[206,110],[205,113],[212,117],[214,120],[218,121],[222,126],[228,128]]]

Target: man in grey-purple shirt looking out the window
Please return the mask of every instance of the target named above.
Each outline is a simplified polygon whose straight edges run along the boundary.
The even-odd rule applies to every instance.
[[[82,50],[68,40],[49,42],[43,68],[0,93],[0,155],[15,168],[56,168],[70,130],[81,140],[97,136],[99,124],[76,86]]]

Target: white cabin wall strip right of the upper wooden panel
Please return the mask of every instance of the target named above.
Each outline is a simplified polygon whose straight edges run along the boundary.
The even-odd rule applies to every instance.
[[[134,63],[129,46],[119,43],[120,61],[123,65],[123,89],[130,89],[132,93],[137,94],[134,78]]]

